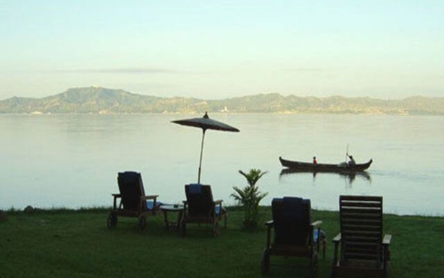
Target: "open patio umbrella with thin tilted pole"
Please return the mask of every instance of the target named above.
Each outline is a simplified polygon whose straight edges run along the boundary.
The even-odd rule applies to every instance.
[[[198,181],[197,181],[198,183],[200,183],[200,170],[202,168],[203,140],[205,138],[205,131],[207,131],[207,129],[214,129],[219,131],[239,132],[239,129],[233,126],[229,126],[228,124],[224,124],[223,122],[218,122],[216,120],[210,119],[210,117],[208,117],[207,112],[205,112],[205,115],[203,115],[203,117],[194,117],[191,119],[176,120],[171,122],[175,124],[182,124],[184,126],[200,127],[200,129],[202,129],[202,143],[200,145],[200,161],[199,161],[199,171],[198,171]]]

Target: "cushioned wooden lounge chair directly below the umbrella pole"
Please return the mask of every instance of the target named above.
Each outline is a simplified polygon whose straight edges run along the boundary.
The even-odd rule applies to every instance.
[[[185,186],[187,201],[183,201],[184,213],[180,224],[180,234],[185,236],[188,223],[211,224],[213,236],[219,235],[219,221],[225,220],[227,227],[227,211],[222,207],[222,200],[213,200],[211,186],[198,183]]]

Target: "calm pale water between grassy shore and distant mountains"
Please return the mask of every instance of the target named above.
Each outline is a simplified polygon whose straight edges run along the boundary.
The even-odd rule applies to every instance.
[[[268,171],[262,204],[284,195],[338,209],[341,194],[382,195],[384,210],[444,215],[444,117],[368,115],[210,115],[241,130],[208,131],[203,183],[235,204],[237,170]],[[117,172],[142,172],[146,193],[184,199],[196,182],[200,129],[171,124],[195,115],[0,115],[0,208],[110,206]],[[368,175],[280,174],[279,156],[318,163],[373,158]]]

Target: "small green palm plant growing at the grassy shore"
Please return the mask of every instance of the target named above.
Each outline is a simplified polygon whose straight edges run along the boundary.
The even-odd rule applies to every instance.
[[[248,186],[245,188],[234,186],[233,189],[235,192],[231,194],[231,197],[244,206],[244,226],[253,229],[257,226],[257,220],[259,218],[259,202],[268,195],[268,193],[259,192],[256,183],[266,172],[262,172],[259,169],[250,169],[250,172],[247,173],[239,170],[239,174],[246,178]]]

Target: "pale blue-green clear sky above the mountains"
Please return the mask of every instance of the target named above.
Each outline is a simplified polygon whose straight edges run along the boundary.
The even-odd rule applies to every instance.
[[[0,0],[0,99],[444,97],[444,1]]]

